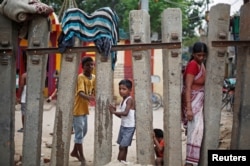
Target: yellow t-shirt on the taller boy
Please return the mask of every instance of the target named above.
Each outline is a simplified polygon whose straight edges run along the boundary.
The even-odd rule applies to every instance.
[[[89,114],[89,102],[79,95],[82,91],[87,95],[95,95],[95,75],[92,74],[92,78],[89,79],[84,74],[79,74],[77,79],[75,102],[74,102],[74,116]]]

